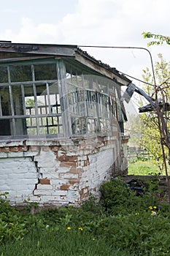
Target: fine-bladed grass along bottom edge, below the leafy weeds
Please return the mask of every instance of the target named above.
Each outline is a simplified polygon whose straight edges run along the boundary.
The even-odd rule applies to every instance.
[[[3,256],[123,256],[127,252],[113,248],[93,234],[75,230],[33,230],[22,241],[8,241],[0,251]]]

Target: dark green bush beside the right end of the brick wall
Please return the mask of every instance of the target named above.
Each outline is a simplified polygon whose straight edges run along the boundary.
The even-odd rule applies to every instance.
[[[141,208],[147,210],[148,206],[159,204],[158,198],[147,191],[143,196],[137,197],[120,178],[101,184],[100,192],[100,203],[109,214],[136,213]]]

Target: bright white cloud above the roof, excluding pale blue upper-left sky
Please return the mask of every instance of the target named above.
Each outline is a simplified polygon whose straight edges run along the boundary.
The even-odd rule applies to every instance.
[[[45,22],[20,17],[18,30],[5,29],[4,23],[0,37],[12,42],[147,47],[147,40],[141,35],[143,31],[169,34],[169,10],[169,0],[78,0],[74,12],[63,16],[58,23],[48,23],[50,13],[44,10]],[[58,7],[56,15],[59,11]],[[150,56],[143,50],[85,50],[130,75],[139,76],[144,67],[150,67]],[[156,53],[163,51],[169,60],[166,46],[150,51],[154,60]]]

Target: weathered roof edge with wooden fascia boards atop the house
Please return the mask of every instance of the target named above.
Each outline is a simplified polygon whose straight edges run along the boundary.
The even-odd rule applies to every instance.
[[[79,64],[84,65],[95,72],[105,75],[107,78],[115,79],[120,85],[128,86],[131,80],[122,75],[117,69],[110,67],[108,64],[104,64],[102,61],[96,60],[93,56],[90,56],[86,51],[81,50],[77,45],[50,45],[50,44],[32,44],[32,43],[12,43],[11,41],[0,41],[0,54],[1,53],[13,53],[20,59],[22,55],[23,59],[27,56],[33,58],[42,58],[42,56],[61,56],[63,59],[66,57],[77,61]],[[15,54],[14,54],[15,53]],[[9,60],[9,57],[8,57]],[[11,60],[11,59],[10,59]],[[7,61],[7,58],[1,57],[0,62]]]

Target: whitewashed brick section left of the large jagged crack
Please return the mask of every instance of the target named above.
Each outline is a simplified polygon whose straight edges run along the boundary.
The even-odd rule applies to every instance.
[[[0,192],[8,192],[12,203],[27,200],[37,183],[38,173],[31,157],[0,159]]]

